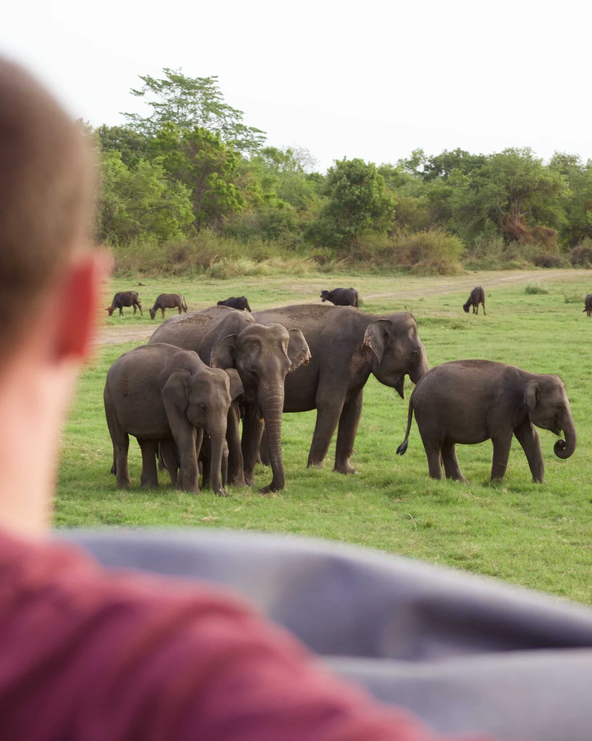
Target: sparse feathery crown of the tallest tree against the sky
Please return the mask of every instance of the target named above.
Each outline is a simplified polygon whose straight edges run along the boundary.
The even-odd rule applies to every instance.
[[[145,98],[152,113],[124,113],[130,129],[147,138],[156,136],[164,124],[182,130],[195,127],[219,134],[223,142],[240,151],[257,151],[265,142],[265,132],[243,124],[243,111],[224,102],[218,76],[186,77],[181,70],[163,69],[164,78],[140,75],[144,85],[130,92]]]

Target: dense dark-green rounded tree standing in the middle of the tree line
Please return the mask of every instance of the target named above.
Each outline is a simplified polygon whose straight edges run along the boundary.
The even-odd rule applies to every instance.
[[[326,195],[329,200],[308,236],[329,247],[357,245],[364,231],[385,230],[394,215],[383,176],[363,159],[336,160],[327,173]]]

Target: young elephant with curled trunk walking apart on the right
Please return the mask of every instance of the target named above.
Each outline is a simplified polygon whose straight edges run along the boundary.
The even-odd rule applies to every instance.
[[[514,434],[522,445],[534,482],[545,481],[545,465],[536,427],[561,431],[554,453],[569,458],[576,449],[565,383],[559,376],[528,373],[515,365],[489,360],[454,360],[425,373],[411,393],[407,431],[397,454],[407,450],[411,419],[419,428],[432,479],[466,481],[460,473],[456,444],[491,439],[491,479],[503,479]]]

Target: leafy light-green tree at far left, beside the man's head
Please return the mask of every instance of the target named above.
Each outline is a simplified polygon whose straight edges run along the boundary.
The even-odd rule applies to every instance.
[[[184,185],[167,183],[163,167],[153,162],[140,160],[131,168],[121,153],[104,152],[100,185],[96,232],[107,245],[178,239],[194,220]]]

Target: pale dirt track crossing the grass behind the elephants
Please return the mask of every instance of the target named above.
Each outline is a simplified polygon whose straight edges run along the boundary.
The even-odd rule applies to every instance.
[[[509,272],[508,275],[497,276],[497,277],[486,277],[483,274],[479,275],[468,275],[463,278],[450,278],[450,282],[445,282],[447,279],[441,279],[443,282],[439,282],[438,285],[423,285],[420,288],[413,288],[411,290],[399,290],[393,293],[365,293],[363,299],[417,299],[420,296],[445,296],[447,293],[459,293],[462,290],[471,290],[479,282],[487,284],[487,287],[492,285],[512,285],[515,283],[528,283],[529,281],[536,280],[540,282],[543,280],[549,280],[553,278],[562,278],[566,281],[571,279],[578,279],[581,275],[575,270],[520,270],[519,272]],[[303,303],[313,303],[312,301]],[[277,306],[286,305],[285,302],[278,302]],[[269,306],[266,308],[274,308]],[[152,332],[156,327],[142,327],[137,329],[118,329],[115,327],[104,328],[100,335],[95,338],[95,345],[121,345],[124,342],[141,342],[141,340],[149,339]]]

